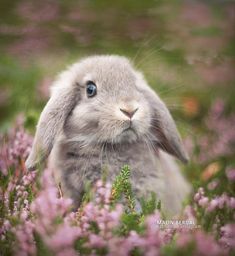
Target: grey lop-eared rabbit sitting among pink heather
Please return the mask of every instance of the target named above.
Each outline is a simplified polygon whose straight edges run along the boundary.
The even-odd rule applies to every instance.
[[[50,155],[57,182],[78,207],[86,181],[124,165],[136,198],[155,192],[163,211],[179,214],[191,191],[174,157],[188,155],[166,105],[141,72],[118,55],[82,59],[62,72],[38,121],[26,161],[37,168]]]

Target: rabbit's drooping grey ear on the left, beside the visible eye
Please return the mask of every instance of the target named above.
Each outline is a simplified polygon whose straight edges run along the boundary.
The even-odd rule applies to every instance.
[[[41,113],[33,147],[25,163],[29,170],[35,169],[48,157],[56,137],[63,129],[66,117],[78,100],[79,88],[73,84],[66,72],[61,75],[52,89],[52,96]]]

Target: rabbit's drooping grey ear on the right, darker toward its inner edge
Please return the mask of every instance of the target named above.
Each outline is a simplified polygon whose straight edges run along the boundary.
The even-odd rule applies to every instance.
[[[183,163],[189,160],[175,122],[163,101],[146,84],[141,74],[138,74],[139,90],[145,95],[152,110],[153,144],[165,152],[177,157]]]

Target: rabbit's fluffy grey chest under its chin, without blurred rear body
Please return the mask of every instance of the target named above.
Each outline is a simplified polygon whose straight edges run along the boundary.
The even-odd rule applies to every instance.
[[[165,179],[156,153],[152,153],[142,142],[120,145],[98,145],[81,147],[79,143],[60,140],[51,155],[51,164],[57,181],[65,195],[79,204],[86,181],[95,182],[105,170],[112,182],[121,168],[128,164],[131,169],[131,183],[137,197],[150,191],[162,197]]]

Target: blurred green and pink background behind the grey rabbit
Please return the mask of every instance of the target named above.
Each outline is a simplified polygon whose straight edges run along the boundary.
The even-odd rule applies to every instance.
[[[51,81],[69,64],[120,54],[171,110],[192,180],[234,165],[234,1],[1,0],[0,38],[1,132],[21,114],[33,133]]]

